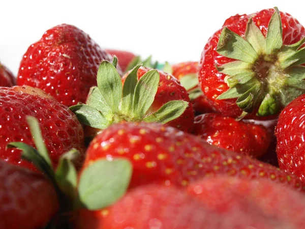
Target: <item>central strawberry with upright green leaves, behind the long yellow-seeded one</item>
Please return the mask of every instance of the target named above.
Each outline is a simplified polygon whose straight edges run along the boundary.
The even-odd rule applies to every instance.
[[[86,104],[70,107],[82,124],[101,130],[122,121],[144,121],[192,130],[194,113],[188,93],[172,75],[137,65],[120,78],[116,62],[116,58],[112,64],[103,61],[98,87],[90,90]],[[95,134],[92,128],[86,133]]]

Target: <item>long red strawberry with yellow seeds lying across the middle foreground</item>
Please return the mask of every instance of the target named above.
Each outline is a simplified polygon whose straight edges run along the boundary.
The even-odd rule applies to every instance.
[[[300,180],[246,155],[211,146],[199,137],[158,123],[113,124],[90,143],[83,168],[100,158],[128,158],[130,187],[161,183],[185,187],[206,176],[267,179],[297,189]]]

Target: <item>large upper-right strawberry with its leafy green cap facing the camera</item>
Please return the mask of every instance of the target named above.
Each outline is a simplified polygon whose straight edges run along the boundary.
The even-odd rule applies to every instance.
[[[304,27],[277,8],[227,19],[208,40],[199,65],[211,106],[224,116],[273,119],[305,92],[304,35]]]

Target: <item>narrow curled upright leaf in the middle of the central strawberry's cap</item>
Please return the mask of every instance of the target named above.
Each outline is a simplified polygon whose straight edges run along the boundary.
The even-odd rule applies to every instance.
[[[138,82],[137,72],[140,67],[141,64],[134,67],[134,69],[128,74],[124,82],[121,110],[125,115],[131,113],[133,110],[133,97]]]

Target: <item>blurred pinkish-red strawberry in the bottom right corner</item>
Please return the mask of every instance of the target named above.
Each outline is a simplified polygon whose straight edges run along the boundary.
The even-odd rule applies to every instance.
[[[303,194],[280,184],[266,180],[218,177],[193,183],[187,191],[211,211],[241,211],[247,214],[256,209],[270,219],[282,221],[283,225],[286,224],[284,228],[303,226]]]

